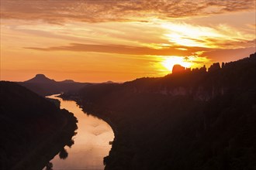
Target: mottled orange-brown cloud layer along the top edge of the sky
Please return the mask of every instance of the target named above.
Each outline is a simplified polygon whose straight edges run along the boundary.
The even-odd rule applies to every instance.
[[[254,10],[254,0],[1,0],[3,19],[62,23],[141,21]]]

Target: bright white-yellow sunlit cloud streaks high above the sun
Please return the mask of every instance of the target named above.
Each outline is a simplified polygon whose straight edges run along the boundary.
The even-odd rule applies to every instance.
[[[166,22],[162,27],[167,30],[164,36],[175,45],[222,49],[254,46],[254,34],[240,32],[224,24],[209,27]]]

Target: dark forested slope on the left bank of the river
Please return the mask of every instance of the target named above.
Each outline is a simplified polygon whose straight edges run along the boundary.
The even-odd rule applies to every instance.
[[[0,169],[42,169],[74,144],[76,118],[17,83],[0,82]]]

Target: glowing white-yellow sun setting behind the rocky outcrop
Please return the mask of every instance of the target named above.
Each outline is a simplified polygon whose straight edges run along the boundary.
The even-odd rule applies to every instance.
[[[172,67],[175,66],[175,64],[179,64],[185,68],[192,66],[191,61],[182,56],[168,56],[168,58],[164,59],[161,64],[169,71],[172,70]]]

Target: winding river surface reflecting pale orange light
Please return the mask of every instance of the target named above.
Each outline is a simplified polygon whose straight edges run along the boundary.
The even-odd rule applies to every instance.
[[[67,158],[61,159],[56,155],[50,162],[57,169],[104,169],[103,158],[109,155],[114,133],[106,121],[85,114],[74,101],[62,100],[57,95],[49,98],[61,101],[61,108],[74,114],[78,119],[78,130],[74,136],[74,145],[65,147]]]

